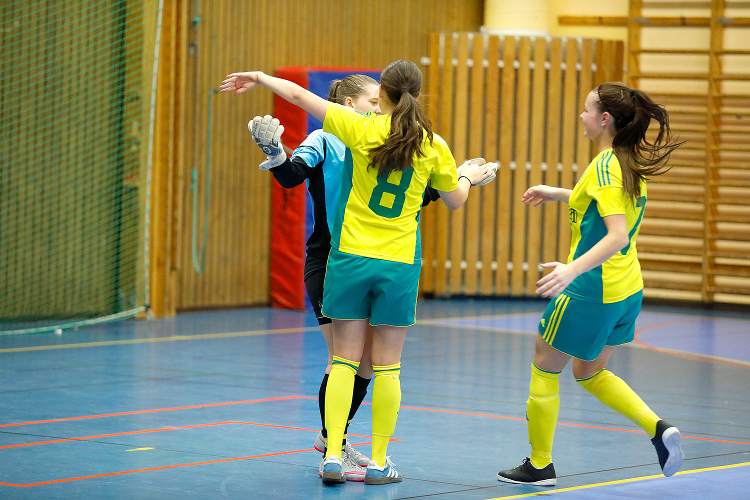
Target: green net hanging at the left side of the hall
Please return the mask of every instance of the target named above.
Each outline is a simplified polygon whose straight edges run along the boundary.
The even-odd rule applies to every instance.
[[[159,13],[0,2],[0,334],[145,310]]]

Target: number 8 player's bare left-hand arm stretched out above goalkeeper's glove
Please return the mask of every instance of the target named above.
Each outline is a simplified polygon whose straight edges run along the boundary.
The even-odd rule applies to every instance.
[[[233,91],[235,95],[239,95],[242,92],[256,88],[258,85],[269,88],[270,91],[278,94],[282,99],[288,100],[290,103],[305,109],[305,111],[320,121],[326,119],[326,109],[328,109],[327,100],[323,99],[323,97],[318,97],[294,82],[269,76],[263,73],[263,71],[246,71],[244,73],[226,75],[226,79],[221,82],[220,89],[222,92]]]

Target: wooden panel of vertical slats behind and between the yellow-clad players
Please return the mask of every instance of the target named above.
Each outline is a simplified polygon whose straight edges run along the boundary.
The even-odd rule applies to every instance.
[[[458,163],[482,156],[500,167],[492,184],[472,188],[463,216],[443,217],[440,203],[422,211],[425,226],[450,235],[437,238],[434,259],[425,261],[423,274],[434,287],[425,283],[422,291],[534,295],[541,262],[567,258],[568,210],[556,203],[526,207],[520,197],[542,182],[572,188],[576,171],[586,168],[592,151],[577,115],[595,80],[621,76],[613,61],[622,59],[622,44],[441,33],[432,35],[430,53],[428,74],[440,79],[429,83],[440,94],[436,132]]]

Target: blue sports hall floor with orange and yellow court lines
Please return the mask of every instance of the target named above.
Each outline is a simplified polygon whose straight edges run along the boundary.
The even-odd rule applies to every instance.
[[[679,427],[648,436],[560,379],[556,487],[500,483],[545,301],[422,300],[389,454],[404,481],[318,478],[326,345],[311,313],[255,308],[0,337],[0,499],[750,499],[750,313],[645,306],[610,370]],[[365,454],[370,395],[350,427]]]

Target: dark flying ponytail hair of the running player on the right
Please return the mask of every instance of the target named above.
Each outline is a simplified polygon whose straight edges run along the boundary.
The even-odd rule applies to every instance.
[[[669,155],[685,142],[676,142],[669,127],[664,106],[651,100],[646,92],[621,82],[602,83],[594,89],[599,112],[608,112],[614,121],[612,149],[622,169],[622,187],[632,198],[640,196],[640,181],[647,175],[661,175]],[[646,130],[654,120],[658,134],[654,142],[646,139]]]

